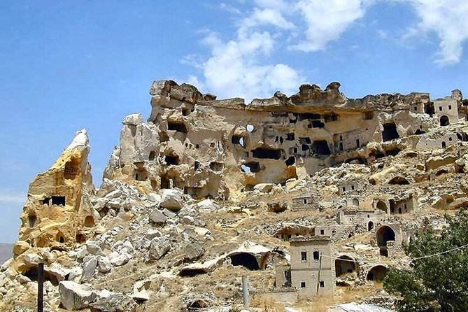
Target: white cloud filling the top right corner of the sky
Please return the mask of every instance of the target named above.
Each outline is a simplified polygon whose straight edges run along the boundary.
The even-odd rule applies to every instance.
[[[434,32],[440,39],[437,64],[460,62],[463,44],[468,40],[468,1],[407,0],[420,21],[411,34]]]

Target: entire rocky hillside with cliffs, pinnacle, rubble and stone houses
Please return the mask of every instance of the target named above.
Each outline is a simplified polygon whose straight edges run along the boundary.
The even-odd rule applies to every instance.
[[[150,96],[99,187],[85,129],[31,182],[1,311],[34,309],[40,262],[46,311],[240,311],[242,276],[250,311],[391,311],[402,243],[468,205],[458,90],[302,85],[246,105],[163,80]]]

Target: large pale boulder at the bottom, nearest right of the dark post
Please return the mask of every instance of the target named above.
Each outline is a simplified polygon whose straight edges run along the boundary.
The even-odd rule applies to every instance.
[[[78,284],[73,281],[59,283],[60,303],[66,310],[79,310],[89,306],[96,298],[90,285]]]

